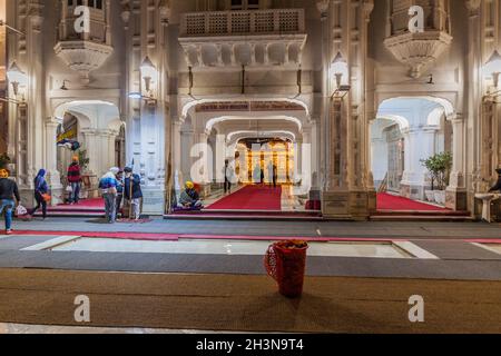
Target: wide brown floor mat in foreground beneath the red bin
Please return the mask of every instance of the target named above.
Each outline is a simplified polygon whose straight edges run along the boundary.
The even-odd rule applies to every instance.
[[[0,271],[8,323],[79,325],[75,290],[92,300],[88,326],[285,333],[501,333],[501,283],[307,278],[302,299],[265,276]],[[410,323],[409,297],[426,298]],[[451,293],[453,290],[454,293]],[[482,293],[479,294],[479,290]]]

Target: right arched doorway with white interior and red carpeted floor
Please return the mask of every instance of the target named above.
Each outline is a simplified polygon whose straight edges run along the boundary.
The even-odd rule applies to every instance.
[[[456,151],[449,101],[432,97],[399,97],[382,101],[371,123],[371,169],[379,210],[448,208],[446,188]],[[430,165],[443,165],[443,176]],[[439,178],[442,178],[440,179]]]

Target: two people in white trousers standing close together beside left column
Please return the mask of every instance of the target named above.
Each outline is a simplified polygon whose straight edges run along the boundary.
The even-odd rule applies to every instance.
[[[139,220],[141,217],[141,178],[134,174],[132,168],[124,170],[114,167],[99,180],[99,189],[105,199],[106,219],[109,224],[117,220],[117,216],[126,200],[129,206],[129,218]],[[124,211],[126,212],[126,211]],[[125,215],[122,212],[122,216]]]

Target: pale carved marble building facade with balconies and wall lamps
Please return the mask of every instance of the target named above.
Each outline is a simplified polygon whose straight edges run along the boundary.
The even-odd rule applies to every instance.
[[[214,150],[217,164],[190,155],[194,145],[219,141],[232,158],[239,139],[281,137],[301,147],[303,188],[325,217],[365,219],[382,175],[372,157],[382,132],[371,127],[385,120],[411,147],[401,181],[410,196],[426,179],[415,161],[450,149],[446,205],[475,214],[474,194],[501,162],[501,69],[485,70],[501,50],[499,1],[7,0],[7,20],[22,32],[8,34],[8,65],[27,75],[18,96],[9,87],[22,101],[9,105],[17,178],[28,191],[47,168],[52,189],[62,188],[56,132],[70,112],[97,176],[125,127],[145,211],[164,214],[194,162],[203,185],[210,165],[224,165]],[[91,20],[82,33],[80,2]],[[413,4],[424,10],[423,32],[409,31]]]

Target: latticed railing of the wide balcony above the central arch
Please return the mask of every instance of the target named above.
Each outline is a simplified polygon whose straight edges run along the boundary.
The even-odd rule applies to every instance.
[[[190,12],[181,18],[181,37],[294,34],[305,32],[304,9]]]

